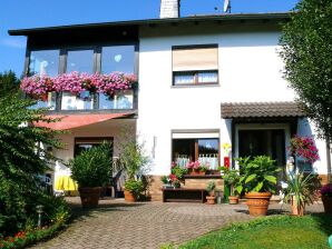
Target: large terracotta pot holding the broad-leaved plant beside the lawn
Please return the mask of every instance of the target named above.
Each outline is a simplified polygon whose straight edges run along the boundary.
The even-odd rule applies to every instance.
[[[251,216],[266,216],[271,192],[248,192],[245,195]]]

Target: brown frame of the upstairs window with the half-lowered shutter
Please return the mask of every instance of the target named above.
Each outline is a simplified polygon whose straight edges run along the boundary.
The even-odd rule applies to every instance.
[[[180,49],[204,49],[204,48],[216,48],[217,49],[217,69],[211,69],[211,70],[174,70],[174,60],[173,60],[173,51],[174,50],[180,50]],[[194,82],[193,83],[182,83],[176,84],[175,83],[175,77],[176,73],[184,72],[188,73],[188,76],[194,76]],[[215,72],[216,73],[216,82],[199,82],[198,81],[198,73],[199,72]],[[172,46],[172,87],[192,87],[192,86],[219,86],[219,56],[218,56],[218,43],[208,43],[208,44],[185,44],[185,46]]]

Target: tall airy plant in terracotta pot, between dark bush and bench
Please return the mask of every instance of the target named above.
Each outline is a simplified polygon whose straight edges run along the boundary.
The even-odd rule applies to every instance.
[[[139,143],[133,139],[124,140],[127,142],[121,145],[119,162],[127,175],[125,182],[125,200],[133,202],[136,201],[139,195],[145,190],[141,188],[144,185],[138,180],[138,176],[141,176],[147,170],[149,159],[145,153],[144,143]]]

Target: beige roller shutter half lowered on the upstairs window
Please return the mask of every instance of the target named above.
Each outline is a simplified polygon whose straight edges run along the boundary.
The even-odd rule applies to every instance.
[[[217,70],[218,48],[174,48],[173,71]]]

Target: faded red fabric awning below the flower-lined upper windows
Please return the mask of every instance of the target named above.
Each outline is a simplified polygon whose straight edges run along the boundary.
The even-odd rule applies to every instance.
[[[47,127],[52,130],[70,130],[78,127],[85,127],[92,123],[107,121],[110,119],[124,118],[133,114],[133,112],[126,113],[98,113],[98,114],[50,114],[47,116],[50,119],[61,119],[58,122],[35,122],[36,127]]]

